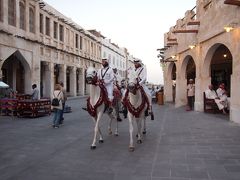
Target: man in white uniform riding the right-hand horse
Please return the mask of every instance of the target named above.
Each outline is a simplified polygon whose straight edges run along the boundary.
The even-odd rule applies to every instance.
[[[139,85],[143,87],[143,90],[147,96],[148,103],[149,103],[149,114],[152,114],[152,97],[151,97],[151,92],[145,85],[147,81],[147,71],[146,67],[142,64],[142,61],[140,59],[135,59],[134,61],[134,66],[135,66],[135,73],[137,75],[137,79],[139,82]]]

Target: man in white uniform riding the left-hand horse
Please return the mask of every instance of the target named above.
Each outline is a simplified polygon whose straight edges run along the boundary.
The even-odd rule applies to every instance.
[[[97,77],[100,83],[103,83],[107,90],[107,96],[109,100],[108,113],[112,113],[112,101],[113,101],[113,82],[114,82],[114,73],[111,67],[109,67],[108,59],[102,59],[103,68],[99,69]]]

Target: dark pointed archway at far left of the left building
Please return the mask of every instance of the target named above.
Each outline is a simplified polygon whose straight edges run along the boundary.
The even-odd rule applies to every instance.
[[[30,67],[20,51],[10,55],[4,61],[1,70],[3,81],[17,93],[24,94],[31,87]]]

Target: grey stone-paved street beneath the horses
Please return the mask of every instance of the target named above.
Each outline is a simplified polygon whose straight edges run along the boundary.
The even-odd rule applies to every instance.
[[[51,116],[0,116],[1,180],[239,180],[240,126],[224,115],[154,105],[143,144],[128,151],[128,121],[119,136],[107,134],[90,150],[93,122],[81,110],[85,99],[69,100],[73,112],[52,129]]]

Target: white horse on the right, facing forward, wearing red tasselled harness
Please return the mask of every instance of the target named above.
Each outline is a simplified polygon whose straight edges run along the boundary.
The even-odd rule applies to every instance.
[[[128,110],[130,143],[129,151],[134,151],[133,144],[133,121],[137,124],[137,143],[142,143],[142,134],[146,134],[145,111],[148,108],[147,97],[143,93],[143,88],[139,85],[135,72],[129,74],[127,91],[123,102]],[[143,122],[143,126],[142,126]]]

